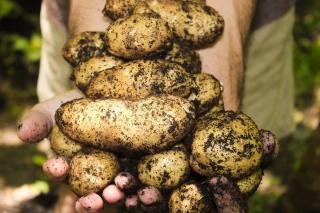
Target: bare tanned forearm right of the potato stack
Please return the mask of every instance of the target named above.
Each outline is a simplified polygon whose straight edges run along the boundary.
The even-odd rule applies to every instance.
[[[225,20],[225,30],[218,42],[199,51],[204,72],[213,74],[224,85],[223,98],[227,110],[240,105],[243,81],[244,46],[255,10],[255,0],[207,0]]]

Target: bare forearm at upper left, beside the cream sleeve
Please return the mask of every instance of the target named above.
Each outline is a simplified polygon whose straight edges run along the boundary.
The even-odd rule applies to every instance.
[[[70,0],[69,33],[105,31],[110,20],[103,16],[105,0]]]

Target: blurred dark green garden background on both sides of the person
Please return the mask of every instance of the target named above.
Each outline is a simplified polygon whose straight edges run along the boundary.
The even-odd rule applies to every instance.
[[[17,119],[37,102],[40,3],[0,0],[0,212],[16,211],[17,205],[48,212],[56,200],[52,183],[41,172],[46,148],[21,145],[15,136]],[[319,0],[296,2],[294,36],[297,129],[281,142],[281,163],[266,172],[250,199],[250,212],[320,212]],[[14,198],[23,193],[27,195]],[[32,204],[21,204],[34,197]]]

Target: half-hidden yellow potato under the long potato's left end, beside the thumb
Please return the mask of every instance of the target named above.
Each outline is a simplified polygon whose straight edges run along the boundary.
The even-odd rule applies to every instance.
[[[66,158],[72,158],[83,147],[81,143],[65,136],[56,125],[52,128],[49,140],[53,152]]]

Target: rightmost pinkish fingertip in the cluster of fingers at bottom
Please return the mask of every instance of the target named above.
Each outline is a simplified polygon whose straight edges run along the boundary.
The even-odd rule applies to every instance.
[[[162,201],[162,195],[160,191],[153,187],[148,186],[138,191],[138,198],[144,205],[154,205]]]

